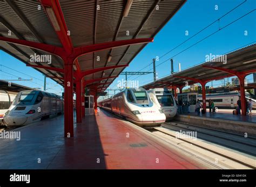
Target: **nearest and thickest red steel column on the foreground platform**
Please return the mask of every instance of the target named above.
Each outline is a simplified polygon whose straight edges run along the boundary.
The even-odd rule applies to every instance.
[[[64,72],[64,133],[73,137],[73,63],[65,63]]]

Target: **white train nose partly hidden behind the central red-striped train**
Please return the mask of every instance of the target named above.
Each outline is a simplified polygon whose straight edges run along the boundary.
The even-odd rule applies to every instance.
[[[171,120],[177,114],[177,106],[172,93],[167,88],[154,88],[147,91],[151,100],[163,110],[166,119]]]

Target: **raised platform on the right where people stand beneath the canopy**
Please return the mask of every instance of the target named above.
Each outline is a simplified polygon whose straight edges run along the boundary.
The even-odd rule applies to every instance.
[[[205,113],[198,115],[191,112],[178,115],[179,122],[190,123],[200,127],[224,130],[256,137],[256,116],[241,116],[228,113]]]

